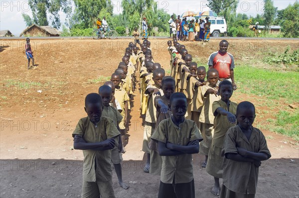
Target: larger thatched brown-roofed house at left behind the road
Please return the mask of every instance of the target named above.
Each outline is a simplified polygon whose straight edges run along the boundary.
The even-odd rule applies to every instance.
[[[51,26],[38,26],[33,24],[20,34],[21,36],[29,35],[29,36],[59,36],[61,34],[56,28]]]

